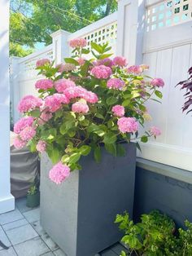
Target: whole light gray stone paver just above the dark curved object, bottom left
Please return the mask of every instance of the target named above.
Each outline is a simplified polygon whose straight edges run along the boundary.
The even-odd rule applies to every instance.
[[[33,227],[31,227],[30,224],[21,227],[15,227],[13,229],[7,230],[6,233],[12,245],[20,244],[38,236],[37,232],[33,229]]]

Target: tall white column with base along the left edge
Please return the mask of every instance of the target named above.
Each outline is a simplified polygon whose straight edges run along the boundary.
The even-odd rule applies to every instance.
[[[15,208],[10,183],[9,0],[0,1],[0,214]]]

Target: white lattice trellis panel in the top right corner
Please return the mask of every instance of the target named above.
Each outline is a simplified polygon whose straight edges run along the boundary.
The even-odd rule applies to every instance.
[[[192,20],[192,0],[165,0],[148,7],[146,31],[181,24]]]

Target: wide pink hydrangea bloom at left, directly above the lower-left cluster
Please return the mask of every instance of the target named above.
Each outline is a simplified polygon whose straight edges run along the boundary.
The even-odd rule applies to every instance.
[[[33,110],[34,108],[41,107],[43,101],[33,95],[24,96],[23,99],[20,100],[18,105],[18,110],[20,113],[27,112],[29,110]]]

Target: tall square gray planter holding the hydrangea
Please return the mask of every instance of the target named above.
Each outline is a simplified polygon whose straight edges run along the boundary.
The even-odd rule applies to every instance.
[[[68,256],[93,256],[120,241],[116,214],[132,218],[136,147],[124,144],[125,157],[112,157],[103,148],[100,164],[83,157],[82,170],[61,185],[48,178],[50,160],[41,159],[41,225]]]

